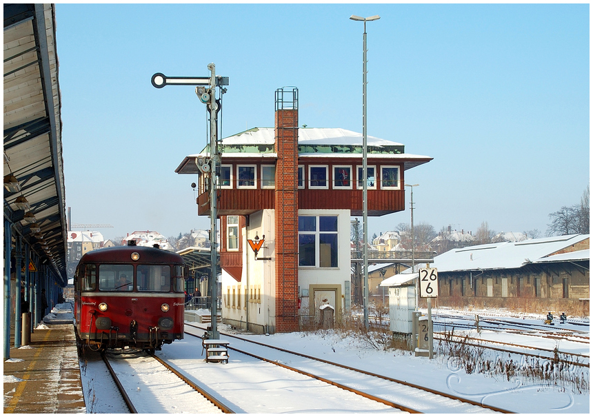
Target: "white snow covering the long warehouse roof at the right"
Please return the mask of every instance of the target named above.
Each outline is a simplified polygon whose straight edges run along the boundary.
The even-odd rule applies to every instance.
[[[541,258],[551,258],[550,254],[587,238],[588,234],[572,234],[521,242],[468,246],[436,256],[432,266],[439,272],[519,268],[526,263],[543,262]]]

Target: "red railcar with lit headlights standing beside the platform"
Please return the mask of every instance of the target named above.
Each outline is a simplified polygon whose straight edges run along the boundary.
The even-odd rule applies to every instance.
[[[181,256],[133,241],[83,255],[74,276],[79,343],[154,351],[182,339],[186,277]]]

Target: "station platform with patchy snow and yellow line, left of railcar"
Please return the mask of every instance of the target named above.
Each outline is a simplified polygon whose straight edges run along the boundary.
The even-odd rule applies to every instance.
[[[56,316],[43,319],[28,345],[10,348],[10,359],[4,361],[5,414],[86,413],[72,313],[70,323],[67,318],[52,320]]]

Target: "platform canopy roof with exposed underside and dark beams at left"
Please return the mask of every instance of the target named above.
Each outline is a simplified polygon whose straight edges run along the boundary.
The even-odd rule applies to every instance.
[[[53,4],[4,4],[4,220],[66,286],[66,193],[55,42]]]

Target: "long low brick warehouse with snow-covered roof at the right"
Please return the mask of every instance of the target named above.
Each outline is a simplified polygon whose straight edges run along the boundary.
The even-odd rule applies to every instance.
[[[588,234],[453,249],[432,266],[439,272],[439,305],[588,309]]]

